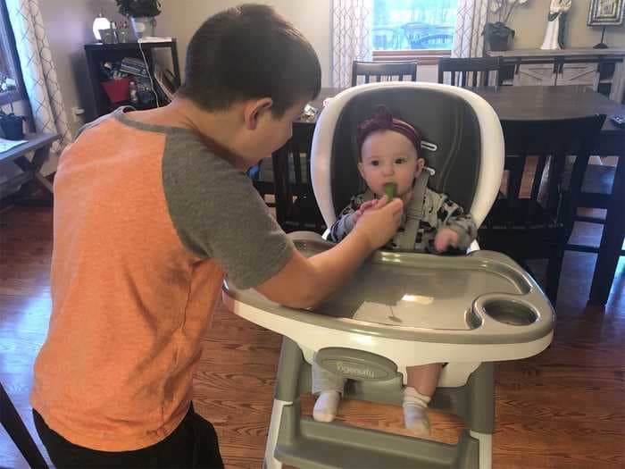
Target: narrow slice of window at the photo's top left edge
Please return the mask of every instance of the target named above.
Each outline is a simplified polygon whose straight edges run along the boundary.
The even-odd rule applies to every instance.
[[[0,105],[22,99],[23,89],[9,14],[0,0]]]

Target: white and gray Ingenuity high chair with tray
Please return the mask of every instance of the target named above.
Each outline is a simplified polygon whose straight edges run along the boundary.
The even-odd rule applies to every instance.
[[[356,127],[376,105],[421,130],[422,155],[436,173],[429,187],[468,209],[476,224],[496,198],[504,139],[496,113],[462,88],[386,82],[349,88],[321,113],[312,143],[312,185],[331,226],[362,191]],[[333,245],[310,232],[289,237],[304,255]],[[354,279],[311,310],[279,306],[228,279],[227,306],[283,334],[264,467],[491,467],[495,420],[493,362],[534,356],[552,340],[554,309],[505,255],[426,255],[379,250]],[[312,357],[350,378],[346,397],[401,405],[406,366],[447,363],[430,407],[462,417],[455,445],[320,423],[301,415],[311,390]]]

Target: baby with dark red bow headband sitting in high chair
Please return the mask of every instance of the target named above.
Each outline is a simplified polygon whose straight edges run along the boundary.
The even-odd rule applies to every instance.
[[[389,189],[404,200],[404,216],[388,248],[440,253],[449,247],[465,250],[475,239],[477,227],[470,214],[446,195],[426,187],[428,170],[421,158],[421,135],[410,124],[394,119],[387,107],[379,105],[373,117],[358,126],[360,148],[358,170],[367,190],[352,197],[329,230],[329,239],[339,242],[354,229],[361,215],[375,206]],[[388,195],[388,194],[387,194]],[[404,424],[415,435],[429,435],[425,409],[437,387],[441,364],[406,368]],[[318,395],[313,417],[331,422],[346,379],[312,363],[312,392]]]

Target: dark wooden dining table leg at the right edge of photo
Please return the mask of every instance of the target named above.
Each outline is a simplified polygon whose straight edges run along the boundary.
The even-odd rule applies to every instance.
[[[614,182],[612,184],[612,197],[605,215],[604,232],[601,235],[599,255],[596,258],[595,274],[590,287],[588,303],[590,305],[605,305],[610,296],[612,281],[619,264],[623,236],[625,235],[625,194],[623,191],[623,178],[625,178],[625,155],[619,156],[616,165]]]

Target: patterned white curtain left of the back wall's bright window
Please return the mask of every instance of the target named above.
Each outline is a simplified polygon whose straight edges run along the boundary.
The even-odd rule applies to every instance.
[[[354,60],[371,60],[372,0],[333,0],[332,86],[352,84]]]

